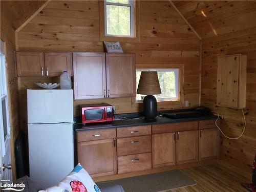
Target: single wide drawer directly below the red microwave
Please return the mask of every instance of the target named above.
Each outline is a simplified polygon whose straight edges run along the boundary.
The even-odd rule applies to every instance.
[[[116,129],[92,130],[77,132],[77,142],[112,139],[116,137]]]

